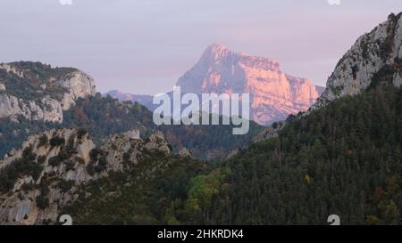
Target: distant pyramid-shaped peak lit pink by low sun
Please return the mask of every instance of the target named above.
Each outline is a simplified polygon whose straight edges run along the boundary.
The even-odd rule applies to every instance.
[[[250,93],[250,117],[267,125],[308,109],[323,88],[281,71],[278,61],[210,45],[177,82],[182,93]]]

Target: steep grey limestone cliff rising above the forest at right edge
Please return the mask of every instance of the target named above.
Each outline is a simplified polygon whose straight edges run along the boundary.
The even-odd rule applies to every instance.
[[[370,85],[402,84],[402,13],[357,39],[337,64],[314,109]]]

